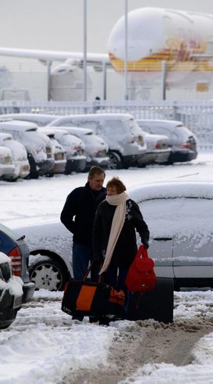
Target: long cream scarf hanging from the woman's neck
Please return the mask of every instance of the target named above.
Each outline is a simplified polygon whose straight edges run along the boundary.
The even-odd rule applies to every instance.
[[[104,263],[99,272],[99,275],[105,272],[110,265],[110,261],[111,261],[118,237],[120,235],[120,232],[123,228],[123,224],[125,222],[126,201],[129,200],[129,196],[126,194],[126,192],[122,192],[119,195],[106,196],[106,200],[109,204],[117,205],[117,207],[112,220],[107,252],[105,254]]]

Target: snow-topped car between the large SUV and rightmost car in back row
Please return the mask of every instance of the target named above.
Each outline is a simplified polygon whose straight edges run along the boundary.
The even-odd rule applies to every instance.
[[[137,161],[136,165],[144,167],[147,164],[164,164],[168,162],[171,148],[168,147],[168,137],[155,135],[141,130],[141,135],[147,144],[145,155]]]

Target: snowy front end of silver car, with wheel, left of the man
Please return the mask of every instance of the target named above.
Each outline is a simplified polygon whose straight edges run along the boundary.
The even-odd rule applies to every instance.
[[[72,234],[60,222],[16,228],[30,249],[29,274],[37,289],[63,290],[73,277]]]

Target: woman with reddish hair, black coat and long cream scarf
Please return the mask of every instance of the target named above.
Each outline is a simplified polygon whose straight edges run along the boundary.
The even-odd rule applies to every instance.
[[[93,225],[93,260],[103,264],[99,272],[103,274],[103,281],[125,292],[127,311],[125,280],[137,252],[135,229],[146,249],[149,248],[149,230],[138,205],[125,190],[118,178],[107,183],[107,197],[99,204]]]

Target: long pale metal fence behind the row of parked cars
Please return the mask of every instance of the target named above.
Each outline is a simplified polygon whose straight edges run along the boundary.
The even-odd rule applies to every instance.
[[[199,146],[213,149],[212,101],[99,101],[27,102],[1,101],[0,113],[48,113],[57,115],[82,113],[130,113],[136,119],[179,120],[198,137]]]

